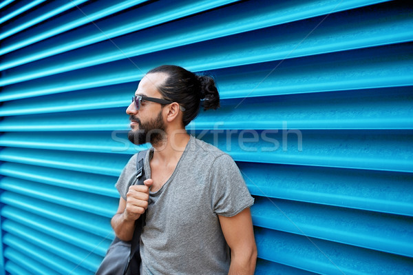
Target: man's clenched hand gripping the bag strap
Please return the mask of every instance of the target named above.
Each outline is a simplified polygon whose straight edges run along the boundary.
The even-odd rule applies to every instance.
[[[131,185],[126,194],[126,206],[123,211],[125,221],[135,221],[143,214],[148,207],[149,188],[153,180],[147,179],[145,185]]]

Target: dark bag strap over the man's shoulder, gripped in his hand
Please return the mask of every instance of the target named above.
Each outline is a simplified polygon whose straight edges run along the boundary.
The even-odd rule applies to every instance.
[[[147,151],[148,150],[140,151],[138,155],[136,156],[136,181],[134,185],[143,185],[144,184],[143,182],[146,179],[145,170],[143,169],[143,161],[145,159]],[[135,259],[134,261],[136,261],[136,256],[138,256],[138,258],[140,259],[140,254],[139,254],[140,233],[142,233],[142,228],[145,226],[145,218],[146,218],[146,212],[140,215],[140,217],[135,221],[134,236],[132,237],[132,241],[131,241],[131,252],[129,254],[127,265],[125,266],[125,271],[123,272],[124,275],[127,274],[129,266],[130,266],[129,264],[132,261],[132,259]]]

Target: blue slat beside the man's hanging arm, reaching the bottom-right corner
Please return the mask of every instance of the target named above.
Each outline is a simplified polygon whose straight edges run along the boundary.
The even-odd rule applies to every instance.
[[[317,274],[409,274],[411,258],[255,228],[258,256]]]

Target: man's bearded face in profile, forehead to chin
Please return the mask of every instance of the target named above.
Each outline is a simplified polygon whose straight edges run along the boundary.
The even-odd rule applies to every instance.
[[[139,83],[136,95],[162,98],[156,88],[166,79],[166,74],[147,74]],[[139,110],[131,103],[126,112],[130,116],[131,130],[128,139],[136,145],[150,142],[153,146],[162,144],[165,139],[166,125],[162,116],[162,105],[150,101],[142,101]]]

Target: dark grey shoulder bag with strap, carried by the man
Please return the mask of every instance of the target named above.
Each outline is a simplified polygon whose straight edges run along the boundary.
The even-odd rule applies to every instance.
[[[136,178],[134,184],[144,184],[145,171],[143,159],[147,150],[140,151],[136,156]],[[122,241],[115,237],[107,249],[106,256],[96,271],[96,275],[139,275],[140,254],[139,243],[142,227],[145,225],[146,212],[135,221],[135,231],[132,241]],[[128,257],[129,255],[129,257]]]

